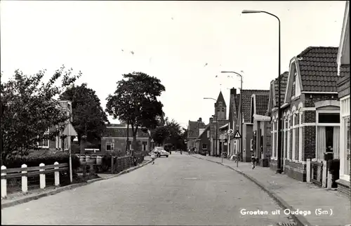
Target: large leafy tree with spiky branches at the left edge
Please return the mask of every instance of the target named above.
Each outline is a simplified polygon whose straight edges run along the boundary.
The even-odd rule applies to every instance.
[[[14,155],[27,155],[38,149],[37,142],[53,140],[69,118],[54,100],[64,88],[74,84],[81,72],[72,75],[72,69],[62,66],[45,84],[42,79],[46,70],[26,75],[19,70],[6,83],[1,82],[1,159]],[[55,84],[62,78],[60,85]],[[46,134],[48,128],[60,126]]]

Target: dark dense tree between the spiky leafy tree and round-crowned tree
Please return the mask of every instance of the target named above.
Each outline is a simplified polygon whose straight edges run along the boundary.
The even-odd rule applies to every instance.
[[[87,84],[71,86],[60,95],[61,100],[72,102],[72,125],[78,134],[78,142],[81,143],[82,136],[86,135],[88,142],[100,140],[105,130],[107,115],[101,107],[100,99],[93,89]]]

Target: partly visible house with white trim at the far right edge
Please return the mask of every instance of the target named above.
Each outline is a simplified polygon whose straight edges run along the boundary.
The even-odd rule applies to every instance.
[[[338,100],[340,100],[340,179],[338,191],[350,197],[350,1],[346,1],[338,49]]]

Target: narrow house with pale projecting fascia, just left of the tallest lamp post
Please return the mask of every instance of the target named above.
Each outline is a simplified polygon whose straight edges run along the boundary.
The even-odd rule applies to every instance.
[[[253,124],[253,138],[251,151],[258,159],[260,166],[269,166],[267,158],[267,133],[270,133],[270,117],[265,116],[270,96],[251,95],[251,124]],[[270,136],[269,136],[270,137]]]

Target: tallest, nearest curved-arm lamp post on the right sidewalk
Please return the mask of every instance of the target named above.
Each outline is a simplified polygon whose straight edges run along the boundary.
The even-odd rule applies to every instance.
[[[268,15],[272,15],[274,18],[278,20],[278,49],[279,49],[279,58],[278,58],[278,153],[277,153],[277,173],[282,173],[282,109],[280,109],[281,98],[280,98],[280,89],[281,89],[281,81],[280,81],[280,20],[277,15],[272,13],[268,13],[266,11],[248,11],[244,10],[241,13],[266,13]]]

